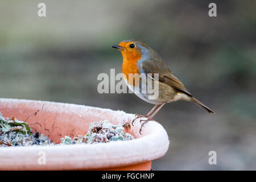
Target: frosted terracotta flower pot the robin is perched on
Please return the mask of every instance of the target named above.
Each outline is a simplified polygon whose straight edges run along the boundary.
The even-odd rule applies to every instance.
[[[42,109],[43,106],[43,110]],[[36,115],[31,115],[40,110]],[[113,124],[127,122],[133,114],[98,107],[61,104],[47,101],[29,101],[0,98],[0,112],[4,117],[20,121],[27,119],[39,133],[44,133],[55,143],[68,135],[85,135],[89,123],[108,119]],[[163,127],[154,121],[143,127],[140,124],[127,130],[136,139],[97,144],[61,146],[0,147],[1,170],[150,170],[152,160],[162,157],[168,150],[169,140]],[[39,164],[40,151],[46,154],[46,164]]]

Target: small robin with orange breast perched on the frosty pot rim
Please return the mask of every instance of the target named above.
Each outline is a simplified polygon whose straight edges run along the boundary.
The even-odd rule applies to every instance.
[[[148,121],[152,121],[155,114],[158,113],[166,103],[184,100],[203,107],[211,114],[214,113],[209,107],[205,106],[188,92],[184,84],[171,71],[162,57],[160,57],[154,49],[147,46],[147,44],[137,39],[127,39],[119,43],[118,46],[112,46],[112,48],[119,49],[122,53],[122,74],[127,86],[133,90],[139,98],[155,105],[146,115],[135,114],[135,118],[131,123],[133,125],[136,119],[140,119],[140,134],[142,127],[144,127]],[[144,74],[147,78],[151,79],[152,84],[158,84],[158,97],[150,99],[148,92],[142,92],[142,88],[145,88],[146,82],[139,80],[139,84],[136,84],[134,83],[134,78],[129,80],[130,74]],[[156,74],[158,74],[158,78]],[[135,90],[137,90],[137,92],[135,92]]]

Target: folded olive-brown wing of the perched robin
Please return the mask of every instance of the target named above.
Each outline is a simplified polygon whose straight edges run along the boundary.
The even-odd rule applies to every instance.
[[[192,96],[191,93],[189,93],[185,88],[183,83],[176,77],[176,75],[174,75],[174,73],[172,73],[172,71],[168,68],[163,60],[144,60],[142,62],[142,69],[146,74],[151,73],[153,78],[154,73],[158,73],[160,82],[168,84],[172,88]]]

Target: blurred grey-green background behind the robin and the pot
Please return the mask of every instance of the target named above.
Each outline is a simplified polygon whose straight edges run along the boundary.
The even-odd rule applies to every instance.
[[[38,3],[46,3],[46,17]],[[210,2],[217,17],[208,16]],[[256,1],[0,2],[0,97],[67,102],[127,113],[153,107],[135,94],[99,94],[99,73],[122,71],[111,48],[139,39],[189,92],[155,116],[171,145],[153,170],[256,169]],[[217,152],[209,165],[208,152]]]

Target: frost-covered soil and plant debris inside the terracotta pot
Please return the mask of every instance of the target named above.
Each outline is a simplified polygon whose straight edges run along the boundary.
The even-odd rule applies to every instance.
[[[34,113],[36,115],[36,113]],[[34,123],[40,125],[40,123]],[[60,139],[60,144],[93,144],[108,143],[117,140],[131,140],[134,137],[125,133],[124,128],[130,127],[129,123],[113,125],[108,121],[92,122],[86,135],[78,135],[73,139],[65,136]],[[54,145],[55,143],[44,134],[32,133],[30,125],[18,121],[15,117],[5,118],[0,113],[0,147]]]

